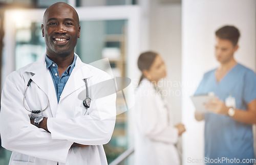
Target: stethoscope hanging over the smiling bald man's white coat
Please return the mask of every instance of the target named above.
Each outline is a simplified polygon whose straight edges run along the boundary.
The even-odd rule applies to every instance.
[[[90,104],[91,104],[91,98],[89,97],[89,92],[88,92],[88,82],[87,82],[87,79],[88,79],[88,78],[84,78],[84,79],[83,79],[84,83],[86,84],[86,99],[84,99],[84,100],[82,101],[82,104],[83,104],[84,107],[86,107],[86,109],[88,109],[88,108],[90,107]],[[30,79],[29,79],[29,82],[28,82],[28,85],[27,85],[27,88],[26,88],[26,90],[25,90],[24,97],[23,97],[23,105],[24,105],[25,109],[26,109],[28,112],[31,112],[31,113],[33,113],[33,114],[39,114],[39,113],[41,113],[41,112],[44,112],[44,111],[49,107],[49,105],[50,105],[50,100],[49,100],[49,98],[47,97],[47,98],[48,98],[48,104],[47,104],[46,108],[44,108],[44,109],[42,109],[42,110],[30,111],[30,110],[26,107],[25,101],[26,101],[26,94],[27,94],[27,91],[28,91],[28,88],[29,88],[31,82],[32,82],[32,79],[30,78]]]

